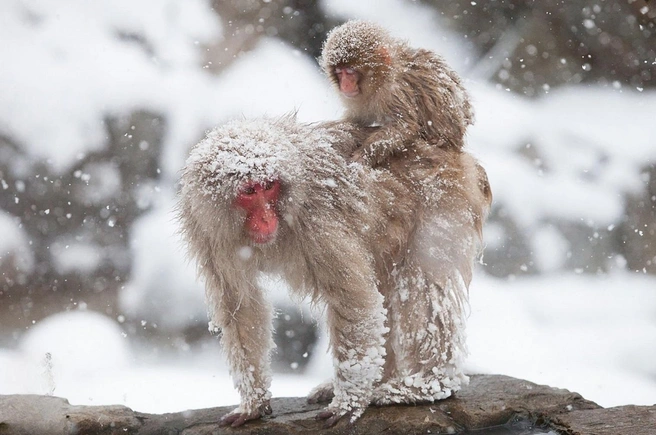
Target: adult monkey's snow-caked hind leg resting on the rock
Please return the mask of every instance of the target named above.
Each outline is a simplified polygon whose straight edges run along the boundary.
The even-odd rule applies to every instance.
[[[417,265],[401,265],[390,298],[395,369],[377,387],[372,403],[434,402],[466,385],[466,286],[457,273],[436,280]]]

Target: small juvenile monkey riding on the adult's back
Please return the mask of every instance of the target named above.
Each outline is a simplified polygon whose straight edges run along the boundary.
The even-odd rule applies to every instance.
[[[346,120],[382,126],[353,160],[379,166],[416,139],[462,149],[472,108],[440,56],[411,48],[376,24],[349,21],[328,34],[320,63],[346,105]]]

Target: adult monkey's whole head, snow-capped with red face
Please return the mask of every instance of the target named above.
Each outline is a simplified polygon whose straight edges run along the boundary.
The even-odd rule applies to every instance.
[[[207,134],[182,174],[185,213],[222,243],[264,246],[288,226],[282,219],[302,179],[292,117],[240,120]],[[224,246],[225,249],[231,249]]]

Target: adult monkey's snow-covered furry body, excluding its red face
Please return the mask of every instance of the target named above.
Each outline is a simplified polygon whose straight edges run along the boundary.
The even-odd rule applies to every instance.
[[[468,154],[422,141],[384,169],[349,164],[339,150],[369,133],[349,123],[235,121],[187,160],[179,217],[241,394],[233,413],[268,411],[262,272],[325,304],[336,416],[442,399],[467,380],[464,308],[489,206],[485,173]],[[272,179],[281,183],[280,227],[274,241],[255,244],[232,204],[245,181]]]

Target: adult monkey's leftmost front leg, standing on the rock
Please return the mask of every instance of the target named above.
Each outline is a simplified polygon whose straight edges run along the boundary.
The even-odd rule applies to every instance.
[[[208,292],[208,296],[209,296]],[[271,414],[270,351],[272,308],[255,286],[230,289],[210,302],[212,321],[222,330],[221,344],[230,374],[241,396],[238,408],[221,419],[223,426],[241,426]]]

